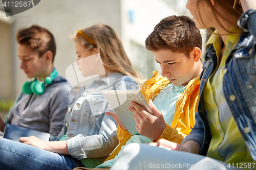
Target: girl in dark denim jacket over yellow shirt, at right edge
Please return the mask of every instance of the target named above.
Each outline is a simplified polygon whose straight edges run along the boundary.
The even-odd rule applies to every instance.
[[[199,77],[196,125],[181,145],[127,146],[112,169],[256,168],[256,2],[188,0],[186,7],[197,28],[216,29]]]

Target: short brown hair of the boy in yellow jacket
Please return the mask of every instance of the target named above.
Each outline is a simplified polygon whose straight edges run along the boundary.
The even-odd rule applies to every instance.
[[[162,19],[145,41],[147,50],[158,51],[162,48],[172,52],[189,53],[194,47],[202,50],[202,36],[195,22],[187,16],[168,16]]]

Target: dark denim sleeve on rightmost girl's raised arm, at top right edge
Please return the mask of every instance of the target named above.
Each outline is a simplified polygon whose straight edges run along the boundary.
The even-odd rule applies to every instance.
[[[256,37],[256,10],[249,9],[245,11],[238,20],[238,26]]]

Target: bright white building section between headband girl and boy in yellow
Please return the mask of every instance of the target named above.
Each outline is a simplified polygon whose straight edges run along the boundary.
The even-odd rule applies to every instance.
[[[161,74],[154,54],[145,48],[145,39],[161,19],[182,13],[177,12],[175,5],[166,0],[123,0],[121,11],[122,42],[133,66],[145,79],[151,78],[154,70]]]

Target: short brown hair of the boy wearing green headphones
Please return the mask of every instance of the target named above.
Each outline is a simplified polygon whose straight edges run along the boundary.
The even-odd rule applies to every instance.
[[[16,40],[19,44],[28,45],[39,57],[47,51],[53,54],[52,62],[56,54],[56,44],[53,35],[44,28],[33,25],[29,28],[22,28],[16,32]]]

